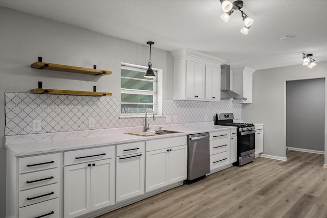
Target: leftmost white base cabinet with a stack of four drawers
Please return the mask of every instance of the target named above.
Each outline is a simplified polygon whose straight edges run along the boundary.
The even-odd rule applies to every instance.
[[[18,158],[7,152],[6,217],[62,217],[62,165],[62,153]]]

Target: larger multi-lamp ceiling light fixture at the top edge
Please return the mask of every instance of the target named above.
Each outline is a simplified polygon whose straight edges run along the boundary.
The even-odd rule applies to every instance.
[[[235,2],[231,3],[229,0],[220,0],[220,3],[221,3],[221,7],[222,7],[223,11],[225,12],[220,17],[225,22],[228,22],[229,17],[231,15],[231,13],[233,13],[234,10],[241,11],[241,13],[242,13],[241,16],[243,18],[243,22],[245,25],[245,27],[242,28],[241,33],[243,33],[244,35],[247,35],[249,32],[249,28],[251,27],[254,20],[251,17],[247,16],[241,10],[241,8],[243,8],[243,1],[235,1]]]

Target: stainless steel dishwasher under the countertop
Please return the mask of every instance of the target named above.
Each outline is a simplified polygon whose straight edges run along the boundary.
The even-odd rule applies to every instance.
[[[188,180],[210,173],[209,133],[188,135]]]

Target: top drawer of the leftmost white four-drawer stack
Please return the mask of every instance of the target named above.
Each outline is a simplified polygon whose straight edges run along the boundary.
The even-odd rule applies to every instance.
[[[60,154],[45,154],[19,158],[19,173],[29,173],[59,166]]]

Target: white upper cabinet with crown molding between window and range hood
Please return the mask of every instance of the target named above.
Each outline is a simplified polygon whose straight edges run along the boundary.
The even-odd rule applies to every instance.
[[[174,100],[220,100],[220,58],[190,49],[171,52],[174,57]]]

